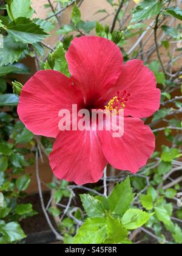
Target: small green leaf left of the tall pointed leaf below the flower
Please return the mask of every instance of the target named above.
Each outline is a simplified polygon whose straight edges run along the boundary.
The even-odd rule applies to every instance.
[[[89,217],[104,217],[105,212],[100,201],[89,194],[82,194],[81,202]]]

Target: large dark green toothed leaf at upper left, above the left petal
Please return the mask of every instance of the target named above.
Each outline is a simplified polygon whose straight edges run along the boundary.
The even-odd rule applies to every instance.
[[[37,43],[48,35],[41,27],[27,18],[18,18],[15,22],[8,24],[7,32],[15,38],[15,41],[30,44]]]

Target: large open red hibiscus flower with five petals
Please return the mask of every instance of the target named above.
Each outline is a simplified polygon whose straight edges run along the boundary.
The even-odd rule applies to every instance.
[[[58,71],[39,71],[22,88],[18,105],[27,129],[56,138],[49,158],[55,176],[78,185],[93,183],[103,176],[107,163],[137,172],[155,149],[155,137],[140,119],[160,107],[155,76],[141,60],[124,64],[120,49],[100,37],[75,38],[66,59],[70,79]],[[113,138],[106,130],[58,129],[62,108],[71,112],[77,104],[78,109],[110,109],[115,101],[124,106],[123,137]]]

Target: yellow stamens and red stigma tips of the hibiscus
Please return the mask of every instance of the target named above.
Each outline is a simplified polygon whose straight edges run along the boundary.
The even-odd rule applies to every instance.
[[[130,96],[131,94],[126,90],[122,93],[121,91],[116,91],[116,96],[110,99],[109,103],[105,106],[106,111],[109,113],[112,111],[119,113],[120,110],[124,110]]]

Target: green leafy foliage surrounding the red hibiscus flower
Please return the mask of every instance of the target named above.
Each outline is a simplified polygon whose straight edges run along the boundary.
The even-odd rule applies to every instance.
[[[55,218],[64,243],[130,244],[137,241],[137,236],[132,235],[133,230],[138,229],[143,232],[143,241],[151,236],[158,243],[181,244],[182,210],[180,204],[177,205],[182,181],[180,5],[177,6],[173,0],[106,0],[106,5],[113,9],[111,13],[101,9],[95,13],[95,20],[84,21],[80,2],[56,2],[56,9],[49,13],[46,20],[33,18],[30,0],[8,0],[2,5],[0,29],[4,36],[4,48],[0,48],[0,192],[4,194],[4,206],[0,205],[0,243],[16,243],[25,238],[19,222],[22,218],[35,215],[31,204],[19,201],[26,196],[25,191],[30,184],[30,176],[25,169],[33,165],[38,145],[46,155],[52,149],[52,143],[47,138],[37,141],[17,120],[16,106],[22,85],[15,81],[16,76],[29,74],[29,68],[22,64],[22,60],[27,56],[35,57],[38,69],[54,69],[69,77],[65,54],[70,42],[75,36],[94,34],[117,44],[123,52],[124,61],[142,59],[155,74],[162,93],[161,108],[152,118],[146,119],[146,123],[153,129],[161,149],[157,149],[138,174],[130,175],[130,179],[127,177],[129,173],[124,171],[120,176],[116,176],[115,171],[115,177],[107,177],[105,181],[109,188],[119,182],[108,197],[103,196],[100,183],[92,188],[70,185],[64,180],[49,183],[53,202],[48,212]],[[60,21],[60,13],[55,13],[60,9],[63,12],[70,5],[70,23],[59,26],[56,31],[59,41],[50,47],[42,40],[54,33],[52,30]],[[128,6],[132,6],[132,10],[127,17]],[[45,8],[53,10],[54,7],[47,2]],[[97,20],[98,14],[103,15],[101,20]],[[112,27],[107,24],[109,17],[113,17]],[[155,41],[147,47],[153,35]],[[132,40],[135,43],[128,49]],[[153,59],[153,53],[157,58]],[[83,207],[72,204],[75,193],[80,190],[81,193],[83,190],[88,192],[80,196]]]

